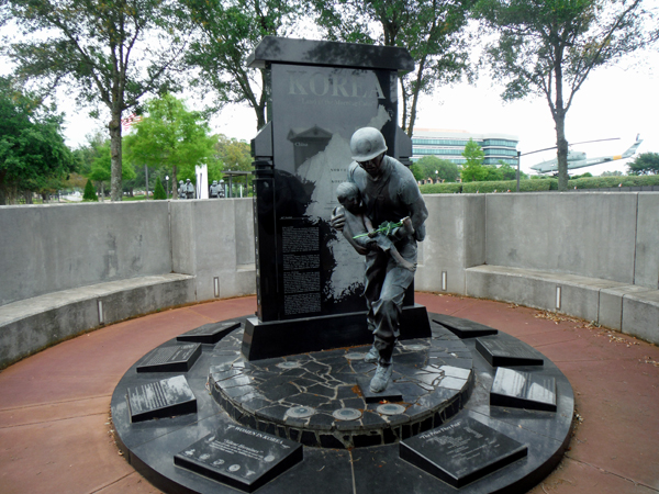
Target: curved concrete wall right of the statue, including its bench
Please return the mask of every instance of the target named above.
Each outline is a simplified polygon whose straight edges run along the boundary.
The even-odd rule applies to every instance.
[[[425,199],[417,290],[557,311],[659,344],[659,193]]]

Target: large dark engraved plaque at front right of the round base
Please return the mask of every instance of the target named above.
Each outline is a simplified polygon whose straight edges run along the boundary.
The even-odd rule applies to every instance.
[[[460,489],[527,454],[527,447],[471,418],[458,418],[400,444],[403,460]]]

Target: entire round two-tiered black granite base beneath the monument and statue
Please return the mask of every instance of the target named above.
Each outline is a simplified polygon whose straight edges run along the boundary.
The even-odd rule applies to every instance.
[[[433,318],[438,317],[431,314]],[[543,366],[514,369],[555,382],[555,411],[528,409],[501,400],[499,406],[491,404],[498,368],[477,349],[477,338],[460,339],[435,322],[432,338],[402,341],[396,349],[394,384],[401,386],[402,400],[366,403],[356,381],[368,378],[375,368],[362,360],[367,347],[246,362],[239,355],[244,319],[236,321],[242,323],[239,328],[215,345],[201,346],[189,370],[137,371],[155,351],[177,345],[176,340],[168,341],[136,362],[114,390],[112,419],[118,445],[126,460],[165,492],[248,491],[241,487],[241,482],[213,480],[181,467],[185,462],[175,464],[175,457],[192,454],[192,446],[201,439],[209,438],[210,444],[232,429],[267,436],[270,441],[304,445],[303,459],[255,487],[259,494],[366,494],[379,490],[522,493],[556,467],[569,441],[574,406],[570,383],[541,353],[504,333],[488,339],[527,347],[543,358]],[[174,416],[165,413],[160,418],[131,422],[129,393],[179,375],[186,377],[196,397],[196,412],[169,414]],[[432,468],[423,467],[414,450],[422,451],[428,445],[433,448],[433,441],[439,445],[453,440],[453,427],[467,425],[473,433],[473,420],[492,434],[477,449],[488,450],[493,444],[488,440],[501,435],[524,445],[526,454],[456,487],[450,480],[440,480]],[[482,436],[482,430],[479,434]],[[429,438],[427,444],[418,446],[425,438]],[[227,471],[234,469],[234,476],[239,476],[244,470],[237,468],[231,464]]]

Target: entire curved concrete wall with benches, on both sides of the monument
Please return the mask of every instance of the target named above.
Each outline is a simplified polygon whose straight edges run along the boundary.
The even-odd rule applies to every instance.
[[[659,193],[425,199],[431,215],[420,244],[417,290],[563,312],[659,344]],[[42,332],[64,338],[138,315],[146,311],[141,306],[255,293],[252,204],[0,206],[0,336],[13,341]],[[159,288],[154,277],[163,280]],[[142,304],[127,304],[129,293],[139,293],[133,302]],[[78,305],[83,310],[74,315],[82,323],[48,323],[53,311]],[[37,349],[26,345],[0,360]]]

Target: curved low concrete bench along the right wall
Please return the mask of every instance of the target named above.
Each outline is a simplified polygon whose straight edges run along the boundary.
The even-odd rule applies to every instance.
[[[466,293],[593,321],[659,344],[659,290],[505,266],[465,270]]]

